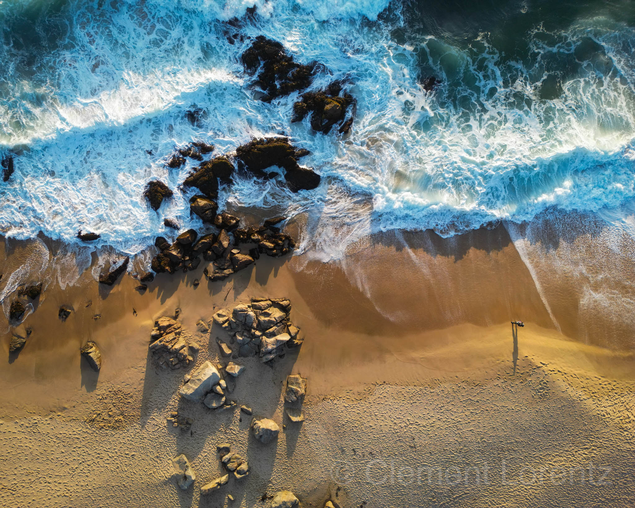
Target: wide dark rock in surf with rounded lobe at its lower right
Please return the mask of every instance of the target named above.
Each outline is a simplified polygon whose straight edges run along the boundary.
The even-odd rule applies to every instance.
[[[313,170],[300,168],[297,159],[307,155],[307,150],[297,150],[288,138],[260,138],[240,145],[236,149],[236,158],[251,173],[267,178],[264,170],[271,166],[284,168],[284,179],[293,192],[301,189],[315,189],[320,177]]]

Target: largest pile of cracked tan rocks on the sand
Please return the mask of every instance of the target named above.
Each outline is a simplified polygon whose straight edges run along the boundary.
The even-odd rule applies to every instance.
[[[250,304],[236,305],[231,312],[221,309],[213,315],[213,320],[234,338],[238,356],[258,354],[264,363],[284,354],[285,345],[302,344],[300,329],[293,326],[290,314],[291,302],[287,298],[251,298]],[[224,354],[223,346],[228,348],[221,343],[221,354]],[[229,353],[232,354],[231,349]]]

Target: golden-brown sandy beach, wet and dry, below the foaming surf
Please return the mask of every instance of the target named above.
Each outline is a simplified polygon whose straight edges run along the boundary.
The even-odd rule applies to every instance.
[[[1,342],[0,502],[251,507],[285,488],[319,508],[327,498],[368,508],[634,505],[632,333],[581,304],[589,263],[570,275],[559,269],[601,234],[549,249],[512,236],[504,227],[449,240],[397,232],[359,243],[341,262],[261,258],[195,288],[202,264],[157,276],[144,295],[130,276],[100,288],[90,270],[65,290],[51,284],[25,320],[33,332],[17,358],[10,333]],[[5,267],[29,248],[9,250]],[[615,291],[631,288],[632,264],[613,272],[624,262],[612,252],[595,291],[610,277],[622,281]],[[239,359],[247,368],[232,397],[286,424],[270,445],[250,437],[239,411],[180,399],[184,371],[157,370],[147,349],[154,319],[178,307],[203,346],[197,362],[218,359],[222,331],[197,334],[196,321],[252,296],[290,298],[305,335],[273,366]],[[75,309],[65,322],[60,304]],[[526,323],[518,335],[511,319]],[[79,356],[86,340],[102,351],[98,375]],[[290,373],[309,380],[302,424],[283,421]],[[168,426],[177,409],[194,418],[191,433]],[[224,441],[251,474],[200,497],[221,471],[215,445]],[[197,474],[188,491],[171,478],[178,453]]]

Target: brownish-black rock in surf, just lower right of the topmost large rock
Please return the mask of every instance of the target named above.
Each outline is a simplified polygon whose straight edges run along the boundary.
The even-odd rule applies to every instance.
[[[347,126],[344,126],[344,118],[347,108],[354,104],[354,99],[349,93],[344,93],[340,97],[341,90],[342,85],[336,81],[326,90],[302,94],[300,100],[293,104],[291,122],[302,121],[309,114],[313,130],[327,134],[333,125],[340,123],[340,132],[348,132],[351,129],[352,117]]]

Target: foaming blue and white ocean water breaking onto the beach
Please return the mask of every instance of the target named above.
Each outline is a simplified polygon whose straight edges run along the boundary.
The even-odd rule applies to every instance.
[[[140,253],[173,236],[164,217],[201,227],[196,190],[178,189],[195,161],[165,166],[175,147],[284,134],[311,150],[320,187],[237,180],[220,204],[303,214],[299,251],[319,259],[371,232],[451,236],[549,210],[633,234],[634,27],[628,1],[4,0],[0,150],[17,156],[0,231],[70,245],[96,231],[98,247]],[[291,124],[297,95],[255,98],[239,57],[261,34],[324,65],[314,88],[349,83],[350,135]],[[155,178],[177,190],[158,212],[142,198]]]

